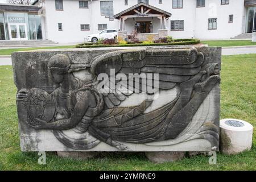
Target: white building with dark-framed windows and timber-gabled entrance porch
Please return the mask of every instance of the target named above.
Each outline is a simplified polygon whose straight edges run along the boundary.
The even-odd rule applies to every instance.
[[[36,0],[32,5],[42,7],[42,38],[63,43],[82,42],[106,28],[229,39],[251,33],[256,24],[256,0]]]

